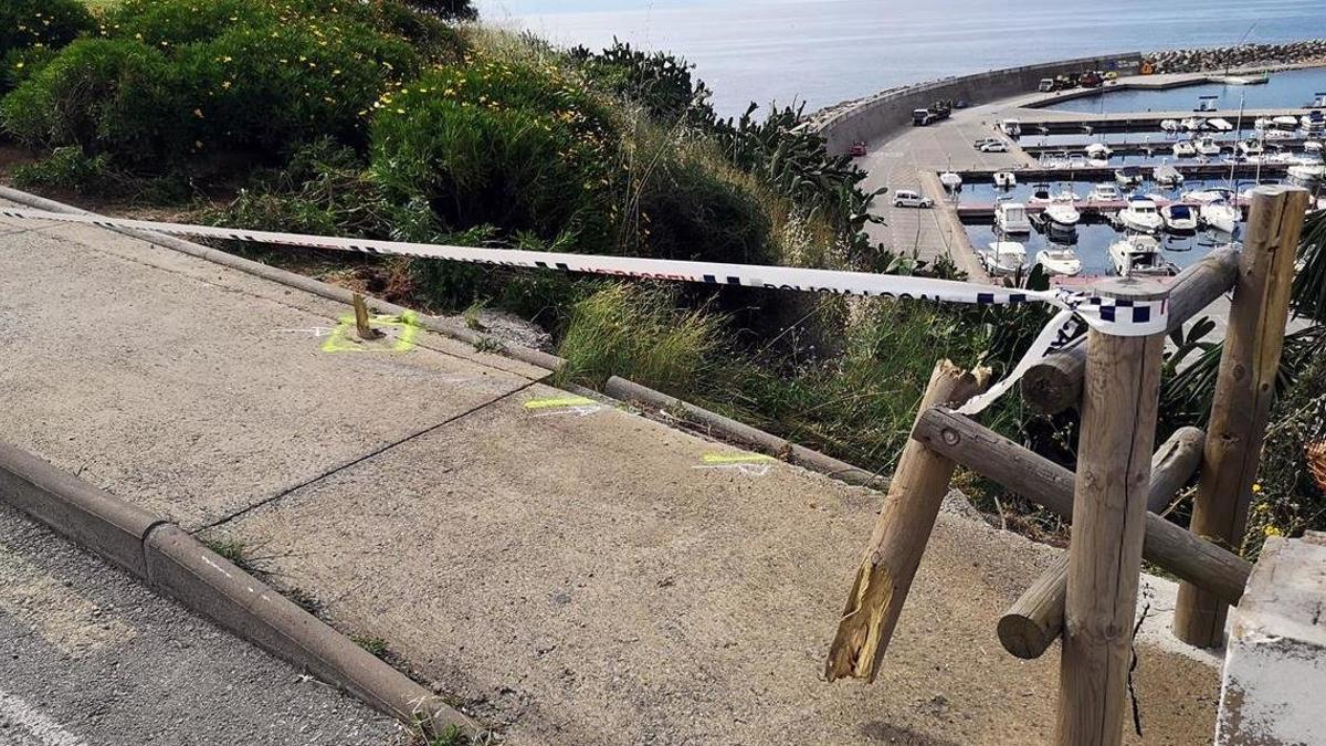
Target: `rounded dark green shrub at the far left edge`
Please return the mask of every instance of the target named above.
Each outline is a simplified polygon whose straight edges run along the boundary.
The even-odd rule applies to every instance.
[[[164,58],[142,44],[78,40],[0,102],[0,126],[34,146],[155,153],[167,80]]]

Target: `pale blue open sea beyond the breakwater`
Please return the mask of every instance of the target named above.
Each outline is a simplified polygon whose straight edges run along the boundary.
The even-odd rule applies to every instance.
[[[485,23],[561,45],[614,38],[695,65],[715,109],[815,110],[940,77],[1071,57],[1322,36],[1319,0],[479,0]]]

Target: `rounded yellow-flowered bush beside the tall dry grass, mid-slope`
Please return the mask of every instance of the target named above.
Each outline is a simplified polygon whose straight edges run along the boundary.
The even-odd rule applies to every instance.
[[[395,200],[426,200],[450,230],[609,244],[611,129],[556,69],[442,68],[375,106],[373,169]]]

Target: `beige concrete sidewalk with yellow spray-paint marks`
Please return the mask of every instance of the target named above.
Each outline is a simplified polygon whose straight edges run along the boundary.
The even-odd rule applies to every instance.
[[[880,680],[827,685],[878,494],[435,335],[328,349],[335,304],[99,228],[27,228],[0,224],[0,438],[241,544],[511,743],[1053,730],[1054,657],[994,636],[1048,547],[944,515]],[[1155,735],[1131,742],[1209,741],[1216,672],[1139,650]]]

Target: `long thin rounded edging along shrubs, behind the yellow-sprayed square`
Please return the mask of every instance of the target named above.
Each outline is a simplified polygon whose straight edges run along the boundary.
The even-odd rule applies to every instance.
[[[46,199],[44,196],[37,196],[34,194],[28,194],[25,191],[19,191],[16,188],[7,186],[0,186],[0,198],[27,204],[36,210],[45,210],[46,212],[90,215],[89,211],[81,210],[72,204],[65,204],[62,202],[56,202],[53,199]],[[273,283],[280,283],[286,287],[301,289],[325,297],[328,300],[343,303],[346,305],[350,305],[351,299],[354,297],[354,292],[346,288],[324,283],[321,280],[314,280],[313,277],[306,277],[304,275],[272,267],[269,264],[263,264],[261,261],[253,261],[252,259],[244,259],[243,256],[227,254],[219,248],[211,248],[199,243],[187,242],[183,239],[178,239],[175,236],[154,234],[150,231],[130,231],[122,228],[107,228],[107,230],[115,231],[117,234],[121,235],[145,240],[147,243],[156,244],[162,248],[168,248],[172,251],[178,251],[180,254],[187,254],[190,256],[203,259],[206,261],[220,264],[223,267],[229,267],[231,269],[236,269],[247,275],[253,275],[256,277],[263,277],[264,280],[272,280]],[[423,327],[424,329],[428,329],[430,332],[436,332],[439,335],[475,346],[496,345],[497,352],[500,352],[501,354],[505,354],[507,357],[518,360],[521,362],[528,362],[529,365],[533,365],[536,368],[542,368],[549,372],[556,372],[557,369],[560,369],[562,365],[566,364],[566,360],[557,357],[556,354],[549,354],[546,352],[537,350],[533,348],[526,348],[522,345],[507,342],[496,337],[492,337],[489,335],[481,335],[479,332],[475,332],[473,329],[467,329],[460,324],[455,324],[452,321],[440,319],[438,316],[418,313],[403,305],[396,305],[394,303],[389,303],[382,299],[369,297],[367,300],[370,307],[378,311],[385,311],[387,313],[394,313],[399,316],[408,311],[415,316],[419,325]]]

